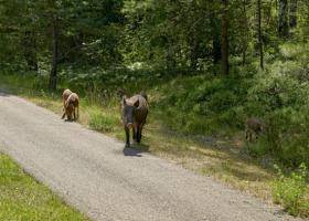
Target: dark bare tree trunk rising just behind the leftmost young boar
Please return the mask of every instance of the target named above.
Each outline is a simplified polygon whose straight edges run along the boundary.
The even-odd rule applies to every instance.
[[[50,19],[51,19],[51,27],[52,27],[52,38],[53,38],[53,60],[52,60],[52,70],[50,73],[50,82],[49,82],[49,90],[55,91],[56,90],[56,74],[57,74],[57,21],[55,18],[55,0],[47,0],[49,11],[50,11]]]

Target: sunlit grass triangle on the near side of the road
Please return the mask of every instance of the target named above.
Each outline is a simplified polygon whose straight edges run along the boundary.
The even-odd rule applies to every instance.
[[[0,220],[89,220],[0,152]]]

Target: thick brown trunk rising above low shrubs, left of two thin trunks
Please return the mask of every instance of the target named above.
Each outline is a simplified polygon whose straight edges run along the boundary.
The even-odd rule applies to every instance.
[[[222,57],[222,72],[228,75],[228,22],[227,22],[227,0],[222,0],[222,20],[221,20],[221,57]]]

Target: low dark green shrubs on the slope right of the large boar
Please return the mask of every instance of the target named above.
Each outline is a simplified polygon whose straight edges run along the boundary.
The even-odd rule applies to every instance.
[[[170,81],[156,88],[151,108],[169,129],[184,134],[228,134],[243,126],[251,80],[200,75]]]

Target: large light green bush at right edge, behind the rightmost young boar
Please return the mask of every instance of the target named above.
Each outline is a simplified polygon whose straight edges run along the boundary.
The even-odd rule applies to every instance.
[[[283,59],[256,74],[248,91],[247,106],[267,124],[264,148],[258,149],[289,167],[309,165],[307,48],[308,43],[283,44]]]

